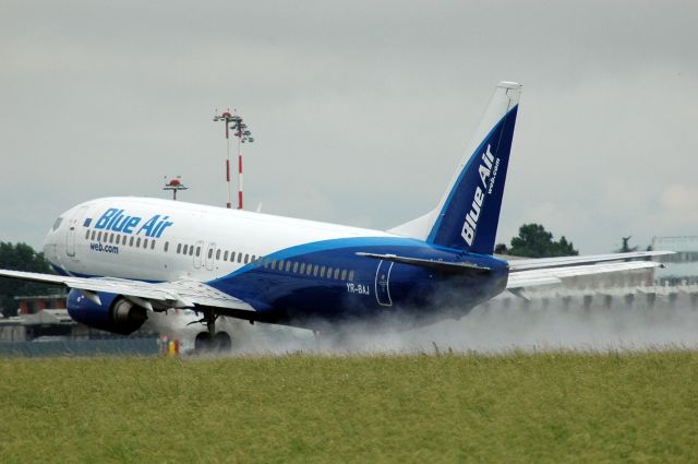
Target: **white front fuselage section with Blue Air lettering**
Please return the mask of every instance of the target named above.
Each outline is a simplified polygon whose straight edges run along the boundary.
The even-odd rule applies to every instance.
[[[122,213],[119,217],[112,214],[111,223],[105,219],[98,224],[110,210]],[[159,218],[153,222],[154,227],[144,228],[155,216]],[[120,227],[128,225],[129,218],[140,221],[133,219],[132,223],[136,223],[133,227]],[[157,224],[166,225],[159,237],[148,237],[148,233],[156,231]],[[397,236],[314,221],[127,197],[88,201],[63,213],[59,227],[47,235],[44,252],[53,265],[69,274],[143,281],[210,281],[281,249],[358,237]]]

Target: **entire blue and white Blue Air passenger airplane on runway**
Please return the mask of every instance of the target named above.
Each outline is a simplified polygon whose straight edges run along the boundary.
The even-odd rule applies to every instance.
[[[521,85],[500,82],[441,201],[372,230],[152,198],[103,198],[61,214],[44,253],[77,322],[131,334],[151,311],[188,308],[195,349],[229,349],[219,317],[311,329],[459,318],[504,290],[649,269],[661,251],[506,261],[494,255]],[[631,261],[630,259],[645,259]]]

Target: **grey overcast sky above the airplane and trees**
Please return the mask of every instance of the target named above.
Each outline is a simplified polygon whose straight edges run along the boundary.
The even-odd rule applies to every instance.
[[[524,84],[497,241],[698,235],[698,2],[0,2],[0,241],[98,197],[389,228],[437,203],[497,81]]]

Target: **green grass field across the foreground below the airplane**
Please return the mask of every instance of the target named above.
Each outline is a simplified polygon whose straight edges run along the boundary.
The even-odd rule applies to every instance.
[[[0,359],[0,462],[698,462],[698,353]]]

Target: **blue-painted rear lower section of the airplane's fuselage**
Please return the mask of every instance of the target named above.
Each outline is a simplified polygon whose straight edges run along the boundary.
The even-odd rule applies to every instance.
[[[443,260],[447,262],[469,261],[494,270],[492,275],[470,277],[444,277],[432,270],[395,263],[390,272],[390,295],[394,307],[410,306],[428,311],[434,306],[431,298],[446,279],[457,283],[457,292],[449,289],[449,296],[457,297],[464,310],[502,290],[501,277],[506,275],[507,264],[490,255],[464,253],[460,250],[434,246],[421,240],[399,237],[361,237],[323,240],[290,247],[270,253],[265,259],[291,261],[321,266],[332,266],[354,271],[354,285],[370,289],[370,294],[350,293],[347,281],[320,277],[318,275],[287,272],[278,267],[272,270],[262,263],[248,264],[224,277],[207,282],[208,285],[248,301],[257,311],[267,313],[268,320],[288,322],[299,319],[346,319],[347,317],[369,318],[386,311],[375,296],[375,275],[380,260],[358,257],[357,252],[398,254],[412,258]],[[300,266],[299,266],[300,267]],[[498,281],[497,281],[498,279]],[[493,287],[500,282],[497,288]],[[430,302],[432,305],[430,305]],[[442,299],[443,304],[450,302]],[[389,309],[388,309],[389,310]]]

